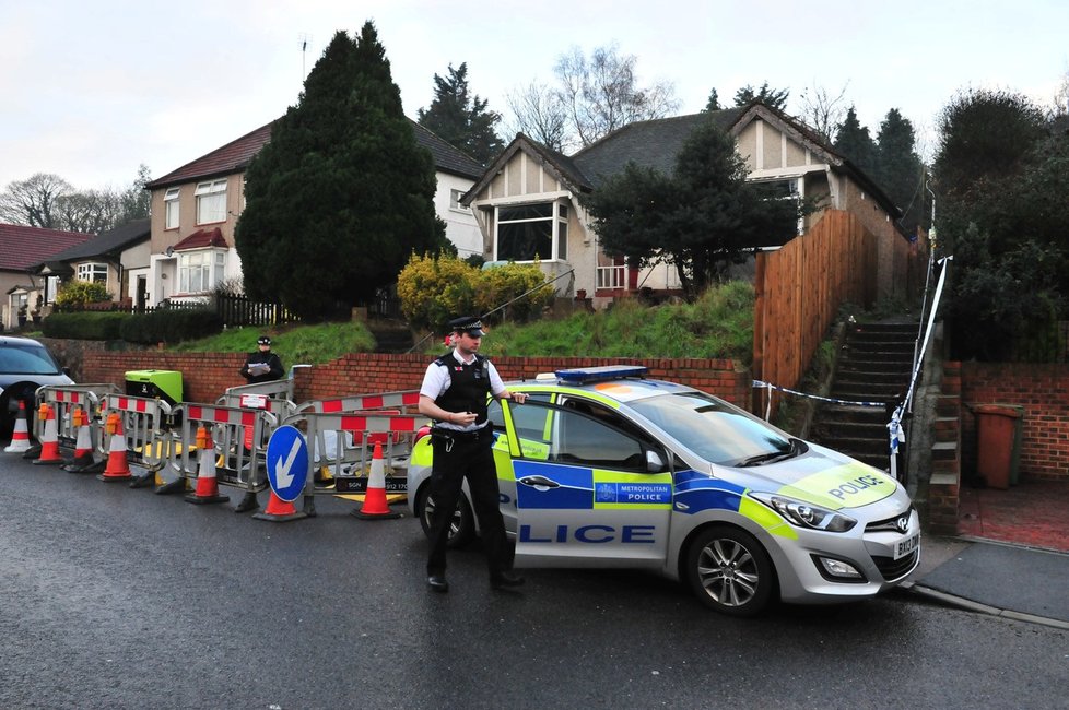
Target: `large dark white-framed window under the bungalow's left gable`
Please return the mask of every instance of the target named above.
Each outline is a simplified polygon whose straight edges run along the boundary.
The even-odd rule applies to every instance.
[[[557,202],[497,208],[498,261],[567,259],[568,206]]]

